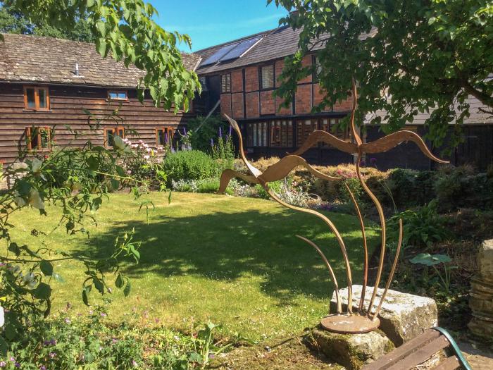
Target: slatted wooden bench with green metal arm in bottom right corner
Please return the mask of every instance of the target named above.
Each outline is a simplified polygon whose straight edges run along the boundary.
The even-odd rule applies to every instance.
[[[432,328],[425,331],[375,362],[366,365],[363,370],[410,370],[445,349],[449,350],[451,356],[440,361],[432,368],[433,370],[472,370],[454,338],[444,328]]]

